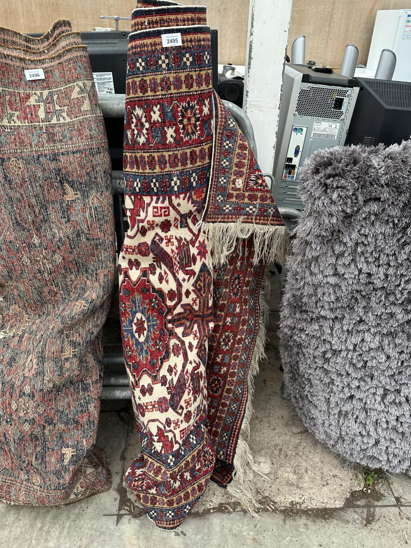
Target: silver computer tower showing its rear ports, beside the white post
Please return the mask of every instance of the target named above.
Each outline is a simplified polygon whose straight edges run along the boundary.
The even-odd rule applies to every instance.
[[[286,65],[278,119],[273,194],[278,206],[302,209],[300,168],[318,149],[344,145],[357,82],[337,73]]]

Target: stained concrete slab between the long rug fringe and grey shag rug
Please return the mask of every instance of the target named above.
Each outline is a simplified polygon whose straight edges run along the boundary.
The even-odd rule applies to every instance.
[[[256,464],[269,478],[255,477],[260,496],[269,496],[281,507],[343,506],[360,487],[355,473],[307,431],[293,404],[281,397],[282,373],[271,342],[266,355],[255,380],[250,424],[250,447]]]

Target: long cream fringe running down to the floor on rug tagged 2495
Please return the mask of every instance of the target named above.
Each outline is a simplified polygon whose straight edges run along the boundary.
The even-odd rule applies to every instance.
[[[270,267],[265,266],[260,286],[260,317],[258,335],[255,341],[250,369],[248,372],[248,398],[246,404],[246,413],[238,436],[236,454],[234,456],[233,479],[227,487],[227,493],[239,501],[245,510],[248,510],[255,516],[255,510],[262,506],[257,502],[255,486],[250,479],[250,472],[258,473],[262,478],[268,479],[254,463],[254,457],[248,446],[250,438],[250,419],[253,414],[252,398],[254,393],[254,378],[259,371],[259,362],[265,358],[265,324],[269,317],[270,307],[268,304],[270,298]]]

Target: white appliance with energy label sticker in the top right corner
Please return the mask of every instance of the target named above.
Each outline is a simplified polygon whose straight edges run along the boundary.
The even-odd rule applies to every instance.
[[[378,10],[367,71],[375,73],[383,49],[391,49],[397,58],[392,79],[411,82],[411,8]],[[356,71],[355,76],[363,75]]]

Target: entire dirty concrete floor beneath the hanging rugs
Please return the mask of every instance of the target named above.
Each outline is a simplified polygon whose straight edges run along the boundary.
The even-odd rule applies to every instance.
[[[278,286],[276,286],[278,288]],[[276,289],[273,287],[273,289]],[[278,306],[274,291],[272,309]],[[0,504],[1,548],[268,546],[399,548],[411,545],[411,478],[381,473],[364,490],[363,470],[346,470],[305,429],[280,396],[278,313],[267,330],[267,360],[254,393],[250,447],[269,481],[255,478],[261,511],[253,517],[209,483],[181,527],[159,530],[122,487],[139,452],[127,402],[102,402],[98,445],[109,453],[112,489],[64,509]]]

